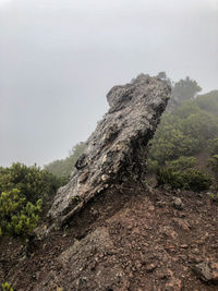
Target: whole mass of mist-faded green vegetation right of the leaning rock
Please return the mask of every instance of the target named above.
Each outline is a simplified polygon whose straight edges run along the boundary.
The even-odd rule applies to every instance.
[[[206,190],[211,178],[196,168],[193,156],[210,153],[209,167],[218,184],[218,90],[196,96],[201,87],[190,77],[178,83],[165,72],[158,77],[172,85],[172,97],[150,142],[148,171],[157,173],[158,185]]]

